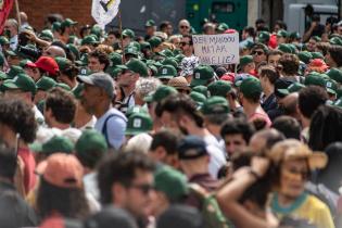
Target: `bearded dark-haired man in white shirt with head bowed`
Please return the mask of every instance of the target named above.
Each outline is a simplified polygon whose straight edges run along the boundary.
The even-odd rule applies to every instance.
[[[225,152],[215,136],[204,127],[204,119],[197,109],[197,103],[189,96],[172,94],[156,109],[156,115],[161,117],[164,127],[204,140],[210,155],[208,173],[217,178],[218,170],[226,163]]]

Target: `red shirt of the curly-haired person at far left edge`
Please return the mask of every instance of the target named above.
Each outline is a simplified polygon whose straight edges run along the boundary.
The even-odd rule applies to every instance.
[[[25,192],[29,192],[36,185],[36,161],[33,153],[28,149],[20,148],[17,155],[23,160],[24,167],[24,187]]]

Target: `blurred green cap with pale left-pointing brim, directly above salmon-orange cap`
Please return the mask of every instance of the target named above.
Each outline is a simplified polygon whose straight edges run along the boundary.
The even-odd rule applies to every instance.
[[[66,137],[54,136],[45,143],[33,143],[30,150],[51,155],[53,153],[73,153],[74,143]]]

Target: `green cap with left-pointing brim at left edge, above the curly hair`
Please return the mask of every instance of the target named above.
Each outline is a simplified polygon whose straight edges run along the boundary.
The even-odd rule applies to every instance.
[[[3,90],[20,89],[25,92],[36,93],[36,84],[33,78],[26,74],[18,74],[13,79],[7,79],[2,84]]]

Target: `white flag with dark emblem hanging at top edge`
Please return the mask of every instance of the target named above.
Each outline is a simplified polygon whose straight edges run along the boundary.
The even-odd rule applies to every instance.
[[[91,15],[101,28],[113,21],[121,0],[92,0]]]

